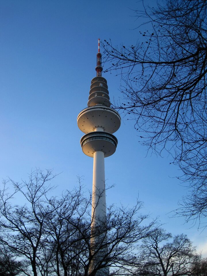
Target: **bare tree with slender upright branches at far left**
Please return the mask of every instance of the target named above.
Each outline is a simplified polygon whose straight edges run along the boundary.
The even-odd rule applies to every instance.
[[[29,181],[4,181],[0,190],[0,241],[16,256],[30,261],[34,276],[37,276],[37,253],[47,242],[43,233],[51,209],[45,205],[45,196],[54,189],[47,184],[53,177],[51,170],[45,173],[35,170],[31,172]],[[15,196],[23,197],[25,204],[13,204]]]

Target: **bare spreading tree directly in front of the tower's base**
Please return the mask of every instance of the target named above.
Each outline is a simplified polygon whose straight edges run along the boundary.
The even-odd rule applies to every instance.
[[[129,274],[134,250],[154,225],[154,221],[145,224],[148,216],[139,213],[141,202],[133,208],[110,206],[107,219],[91,231],[91,196],[83,198],[81,190],[66,194],[67,200],[65,196],[51,200],[55,213],[47,224],[54,241],[57,275],[62,269],[64,276],[93,276],[109,268],[109,275]],[[95,248],[91,239],[99,241]]]

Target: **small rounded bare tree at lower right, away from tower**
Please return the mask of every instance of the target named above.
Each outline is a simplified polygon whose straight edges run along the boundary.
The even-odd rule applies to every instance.
[[[172,236],[158,228],[144,239],[137,260],[140,276],[190,276],[200,260],[186,235]]]

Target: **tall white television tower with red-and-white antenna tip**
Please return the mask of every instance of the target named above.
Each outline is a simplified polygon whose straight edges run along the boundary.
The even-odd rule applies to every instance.
[[[93,157],[91,230],[106,220],[104,158],[116,151],[118,141],[112,133],[116,132],[121,124],[118,112],[110,108],[107,81],[101,76],[103,68],[99,46],[100,39],[98,39],[96,77],[91,81],[88,107],[83,109],[77,118],[79,129],[85,133],[80,141],[82,150],[87,156]],[[98,243],[98,238],[91,239],[91,243]],[[93,260],[93,267],[97,261]]]

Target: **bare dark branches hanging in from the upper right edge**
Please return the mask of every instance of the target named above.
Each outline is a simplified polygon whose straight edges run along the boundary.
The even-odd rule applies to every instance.
[[[167,0],[136,12],[147,23],[142,42],[103,43],[108,70],[122,77],[114,107],[135,120],[141,143],[170,152],[190,185],[178,212],[200,219],[207,212],[207,1]]]

